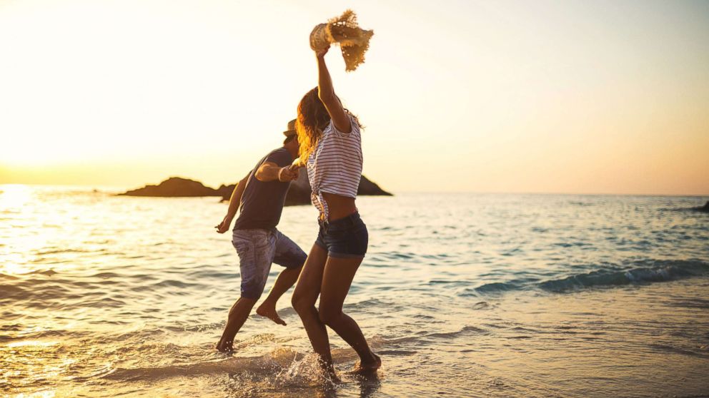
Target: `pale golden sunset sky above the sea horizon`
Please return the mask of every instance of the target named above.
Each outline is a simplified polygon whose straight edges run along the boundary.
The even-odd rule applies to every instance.
[[[0,184],[234,183],[317,85],[399,192],[709,195],[709,1],[0,0]]]

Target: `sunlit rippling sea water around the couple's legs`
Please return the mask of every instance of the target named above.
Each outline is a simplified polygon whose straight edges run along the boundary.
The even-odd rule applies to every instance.
[[[370,246],[344,307],[383,366],[346,374],[330,331],[332,384],[292,290],[287,326],[254,314],[214,349],[239,297],[218,198],[0,191],[3,397],[709,396],[707,198],[358,198]],[[285,208],[279,230],[307,252],[316,217]]]

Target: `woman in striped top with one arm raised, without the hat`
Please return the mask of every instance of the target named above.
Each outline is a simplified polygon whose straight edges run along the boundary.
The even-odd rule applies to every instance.
[[[293,293],[298,312],[324,370],[335,377],[327,329],[329,326],[360,355],[353,372],[376,371],[381,359],[367,345],[355,320],[342,312],[344,298],[367,252],[367,226],[355,197],[362,176],[360,123],[334,93],[324,56],[317,51],[318,86],[298,105],[296,131],[300,157],[319,210],[320,230]],[[315,308],[317,296],[319,308]]]

